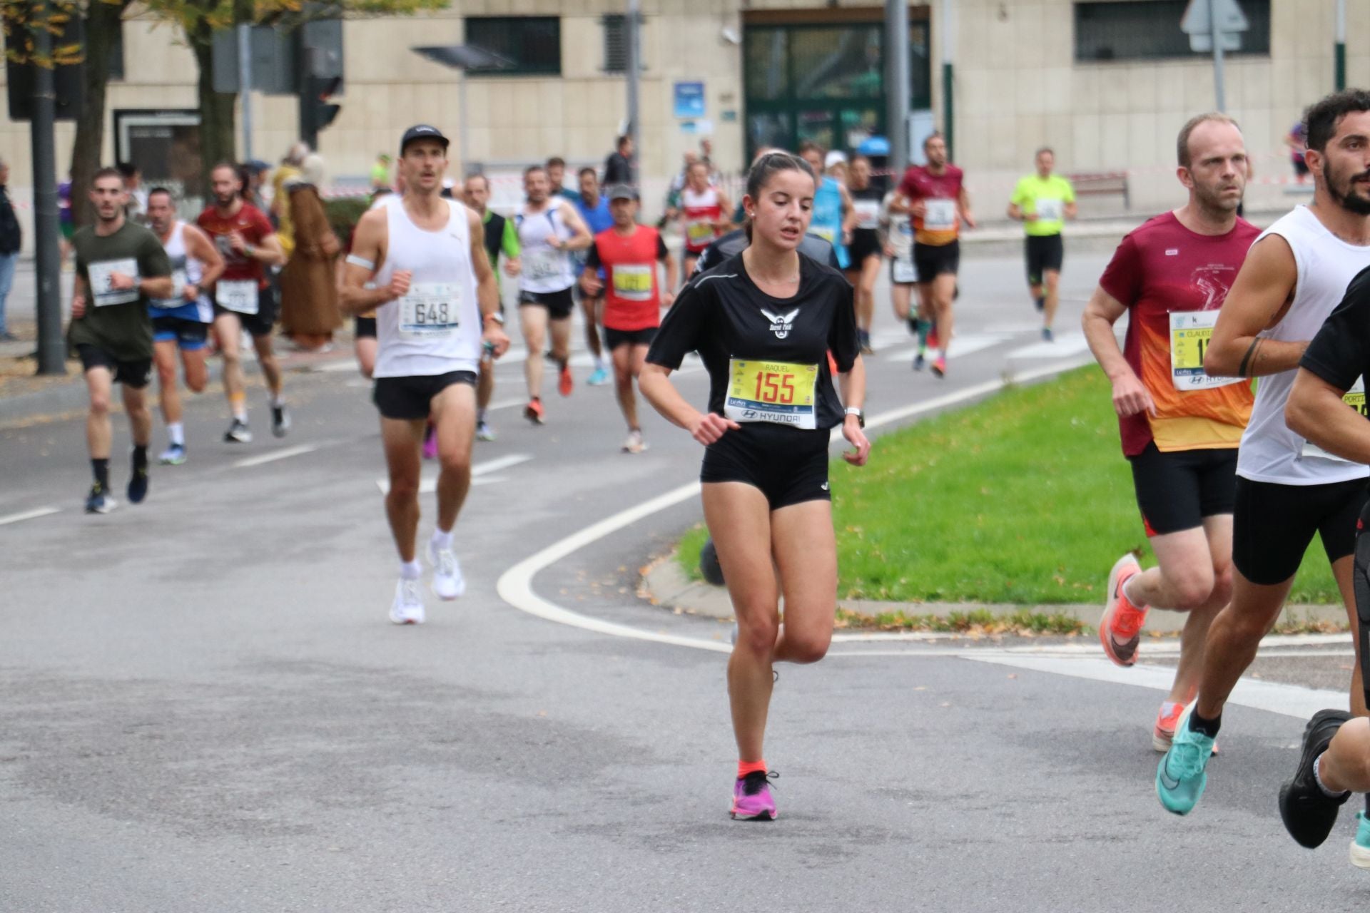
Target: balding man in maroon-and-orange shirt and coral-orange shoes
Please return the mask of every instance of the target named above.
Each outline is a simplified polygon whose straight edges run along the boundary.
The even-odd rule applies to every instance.
[[[1237,445],[1249,379],[1211,378],[1203,356],[1237,271],[1260,231],[1237,215],[1247,185],[1241,130],[1221,114],[1191,119],[1177,144],[1189,201],[1123,238],[1085,308],[1089,348],[1112,383],[1122,450],[1159,567],[1114,564],[1099,639],[1118,665],[1137,660],[1148,606],[1189,612],[1180,664],[1152,731],[1170,747],[1203,671],[1214,616],[1232,595]],[[1129,315],[1122,350],[1114,323]]]

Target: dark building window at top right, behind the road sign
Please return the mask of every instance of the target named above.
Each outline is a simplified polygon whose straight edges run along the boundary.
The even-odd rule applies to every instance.
[[[1075,62],[1191,57],[1180,30],[1189,0],[1093,0],[1075,3]],[[1270,0],[1241,0],[1251,26],[1236,53],[1270,55]]]

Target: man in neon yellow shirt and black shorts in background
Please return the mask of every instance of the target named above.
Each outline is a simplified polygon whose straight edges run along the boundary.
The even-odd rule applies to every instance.
[[[1075,189],[1070,186],[1070,181],[1052,174],[1055,167],[1056,153],[1038,149],[1036,174],[1018,181],[1008,203],[1008,218],[1021,220],[1028,231],[1028,286],[1033,303],[1043,312],[1041,338],[1047,342],[1052,339],[1051,324],[1060,301],[1056,289],[1060,283],[1060,264],[1066,257],[1060,230],[1066,219],[1075,218]]]

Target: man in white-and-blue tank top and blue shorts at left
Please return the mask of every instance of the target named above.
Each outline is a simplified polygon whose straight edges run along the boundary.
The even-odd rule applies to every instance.
[[[167,426],[167,449],[162,465],[185,463],[185,424],[181,422],[181,391],[175,385],[175,353],[181,350],[185,386],[203,393],[210,381],[204,346],[214,323],[214,307],[206,289],[223,274],[223,257],[210,235],[175,218],[175,203],[166,188],[148,192],[148,226],[171,260],[175,297],[152,301],[152,361],[158,368],[162,420]]]

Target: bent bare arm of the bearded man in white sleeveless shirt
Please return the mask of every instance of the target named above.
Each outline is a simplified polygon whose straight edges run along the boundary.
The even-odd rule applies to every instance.
[[[1288,241],[1271,234],[1254,244],[1218,312],[1203,359],[1204,372],[1221,378],[1259,378],[1299,367],[1307,339],[1281,342],[1259,335],[1282,316],[1297,281],[1299,267]]]

